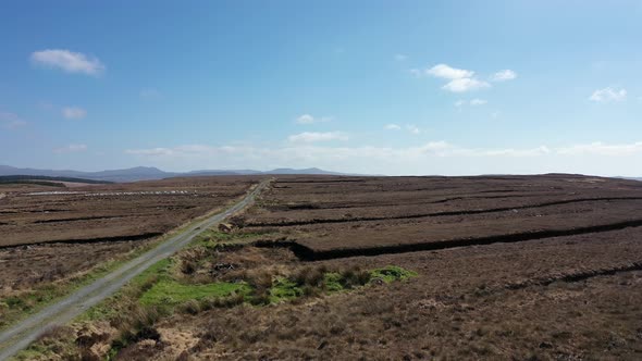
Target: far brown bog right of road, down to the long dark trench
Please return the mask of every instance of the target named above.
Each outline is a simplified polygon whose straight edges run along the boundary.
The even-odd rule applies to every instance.
[[[582,176],[286,178],[246,228],[308,259],[440,249],[642,225],[642,183]]]

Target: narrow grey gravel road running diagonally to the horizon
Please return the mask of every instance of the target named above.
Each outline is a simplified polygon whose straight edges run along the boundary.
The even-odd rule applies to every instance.
[[[123,287],[135,276],[143,273],[152,264],[172,256],[181,248],[205,232],[207,228],[217,225],[230,215],[237,213],[250,206],[270,183],[269,179],[261,182],[245,198],[223,212],[217,213],[208,219],[193,224],[180,234],[170,237],[153,249],[145,252],[138,258],[128,261],[119,269],[94,283],[74,291],[65,298],[48,306],[39,312],[2,331],[0,334],[0,360],[7,360],[35,341],[40,334],[54,326],[66,324],[89,308],[110,297]]]

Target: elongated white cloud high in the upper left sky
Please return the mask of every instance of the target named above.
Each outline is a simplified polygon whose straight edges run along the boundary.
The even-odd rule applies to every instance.
[[[36,51],[30,59],[35,64],[61,69],[67,73],[98,75],[104,71],[104,65],[97,58],[63,49]]]

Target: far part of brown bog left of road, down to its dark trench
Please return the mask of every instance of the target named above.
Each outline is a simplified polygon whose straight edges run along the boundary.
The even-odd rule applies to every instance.
[[[240,197],[255,180],[195,177],[7,191],[0,186],[0,247],[153,237]]]

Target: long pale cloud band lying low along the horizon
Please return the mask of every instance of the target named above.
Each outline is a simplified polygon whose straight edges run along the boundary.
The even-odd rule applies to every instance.
[[[129,149],[125,153],[168,170],[310,167],[388,175],[471,175],[583,173],[639,176],[631,164],[642,162],[642,141],[570,147],[476,148],[435,140],[405,147],[321,146],[284,144],[281,147],[242,144],[187,145]]]

